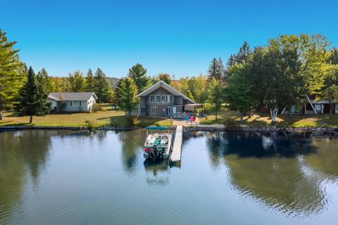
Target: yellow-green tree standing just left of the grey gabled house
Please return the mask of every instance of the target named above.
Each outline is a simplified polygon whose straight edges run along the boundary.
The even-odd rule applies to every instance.
[[[128,112],[128,115],[139,103],[138,89],[134,80],[131,77],[126,77],[121,80],[119,90],[118,106]]]

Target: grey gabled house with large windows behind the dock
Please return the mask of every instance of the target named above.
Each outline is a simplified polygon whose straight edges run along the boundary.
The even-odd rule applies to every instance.
[[[139,94],[139,105],[134,108],[132,115],[169,117],[192,113],[202,104],[192,101],[169,84],[160,81]]]

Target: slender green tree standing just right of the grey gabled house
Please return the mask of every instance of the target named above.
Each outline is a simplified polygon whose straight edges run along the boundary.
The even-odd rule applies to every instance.
[[[217,120],[218,110],[220,110],[220,106],[223,103],[223,89],[220,81],[214,77],[211,77],[208,94],[208,102],[213,105],[215,109],[215,120]]]

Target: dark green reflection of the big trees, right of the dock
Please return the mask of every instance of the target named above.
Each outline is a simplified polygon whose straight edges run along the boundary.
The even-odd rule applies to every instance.
[[[325,207],[322,180],[313,170],[318,168],[312,167],[318,165],[322,171],[331,168],[322,165],[330,158],[327,151],[337,152],[332,143],[324,146],[323,153],[318,150],[323,146],[313,144],[311,134],[230,132],[206,136],[211,164],[217,168],[224,162],[230,169],[230,183],[242,195],[292,214],[312,214]],[[332,164],[337,162],[337,157],[334,159]]]

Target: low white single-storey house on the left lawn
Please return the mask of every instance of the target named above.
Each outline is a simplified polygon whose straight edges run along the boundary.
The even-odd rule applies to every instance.
[[[47,101],[51,103],[51,110],[55,113],[91,112],[96,100],[94,92],[52,92],[47,97]]]

